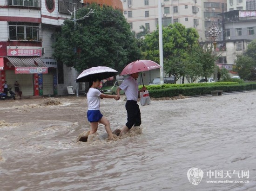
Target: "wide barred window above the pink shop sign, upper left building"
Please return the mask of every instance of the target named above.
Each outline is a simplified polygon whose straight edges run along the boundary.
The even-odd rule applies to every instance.
[[[39,30],[37,23],[9,22],[10,40],[39,41]]]

